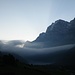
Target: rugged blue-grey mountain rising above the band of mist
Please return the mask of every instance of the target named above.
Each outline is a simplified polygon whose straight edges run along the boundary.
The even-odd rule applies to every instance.
[[[41,33],[33,42],[26,42],[28,47],[54,47],[75,44],[75,18],[70,22],[57,20]]]

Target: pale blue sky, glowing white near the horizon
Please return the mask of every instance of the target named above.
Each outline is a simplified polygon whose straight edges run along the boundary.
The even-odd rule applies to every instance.
[[[52,22],[75,17],[75,0],[0,0],[0,40],[33,41]]]

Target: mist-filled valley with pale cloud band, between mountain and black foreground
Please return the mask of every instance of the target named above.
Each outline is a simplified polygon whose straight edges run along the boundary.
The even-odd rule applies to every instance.
[[[25,42],[8,41],[0,42],[0,51],[10,53],[22,62],[27,61],[30,64],[53,64],[62,59],[64,54],[75,47],[75,44],[68,44],[50,48],[28,48]]]

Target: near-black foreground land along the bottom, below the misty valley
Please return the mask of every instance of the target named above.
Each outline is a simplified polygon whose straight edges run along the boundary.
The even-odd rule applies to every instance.
[[[1,53],[0,53],[1,54]],[[32,65],[21,63],[13,55],[0,55],[0,75],[75,75],[73,65]]]

